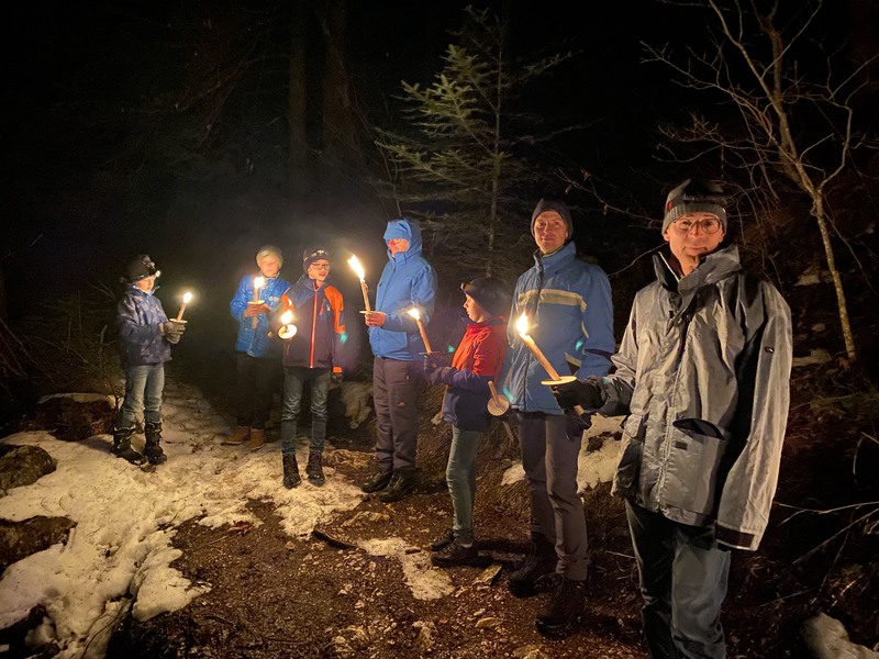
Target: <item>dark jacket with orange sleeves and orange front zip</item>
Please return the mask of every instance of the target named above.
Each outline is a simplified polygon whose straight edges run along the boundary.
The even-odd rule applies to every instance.
[[[308,275],[299,278],[281,297],[281,310],[293,312],[297,334],[283,344],[283,365],[333,368],[342,372],[341,349],[345,337],[342,293],[324,283],[314,289]]]

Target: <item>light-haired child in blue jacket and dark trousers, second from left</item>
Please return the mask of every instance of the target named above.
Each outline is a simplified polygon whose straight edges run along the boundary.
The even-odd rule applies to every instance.
[[[283,255],[275,245],[256,253],[259,275],[245,275],[229,303],[238,323],[235,340],[235,417],[237,427],[223,444],[243,444],[259,450],[266,440],[266,422],[271,411],[271,393],[280,375],[281,344],[270,335],[269,315],[281,303],[290,283],[281,278]],[[262,286],[256,286],[260,283]],[[260,304],[255,303],[256,301]]]

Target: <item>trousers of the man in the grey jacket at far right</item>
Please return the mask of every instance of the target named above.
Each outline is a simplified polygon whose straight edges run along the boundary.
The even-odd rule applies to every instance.
[[[730,552],[717,548],[714,529],[671,522],[630,501],[625,512],[638,563],[650,657],[726,657],[720,615]]]

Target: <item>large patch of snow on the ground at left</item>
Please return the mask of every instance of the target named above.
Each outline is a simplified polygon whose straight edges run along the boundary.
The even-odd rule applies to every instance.
[[[69,398],[90,400],[88,394]],[[66,545],[54,545],[7,569],[0,579],[0,628],[43,604],[52,619],[41,634],[57,640],[63,648],[59,658],[81,657],[90,636],[119,613],[113,600],[133,596],[133,614],[148,619],[177,611],[210,589],[191,584],[169,567],[179,556],[170,547],[174,528],[183,522],[196,518],[212,528],[237,521],[256,523],[247,501],[267,499],[281,516],[285,532],[302,537],[320,521],[361,501],[359,490],[334,478],[332,468],[326,469],[323,488],[305,482],[286,490],[280,446],[270,444],[258,453],[221,446],[226,423],[194,389],[168,381],[163,412],[168,461],[155,471],[113,457],[110,435],[73,443],[33,432],[3,439],[40,446],[58,468],[31,485],[10,490],[0,499],[0,517],[59,515],[77,526]],[[141,442],[135,436],[134,444]],[[304,461],[307,443],[299,453]],[[92,644],[89,655],[94,651]]]

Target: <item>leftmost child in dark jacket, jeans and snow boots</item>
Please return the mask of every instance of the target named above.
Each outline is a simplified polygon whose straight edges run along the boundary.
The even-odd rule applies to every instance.
[[[155,292],[159,271],[145,254],[125,268],[125,293],[116,309],[119,345],[125,371],[125,398],[113,428],[113,455],[134,465],[165,461],[162,450],[162,391],[165,362],[171,358],[171,344],[180,340],[186,321],[169,321]],[[144,455],[131,447],[137,413],[144,411],[146,446]]]

